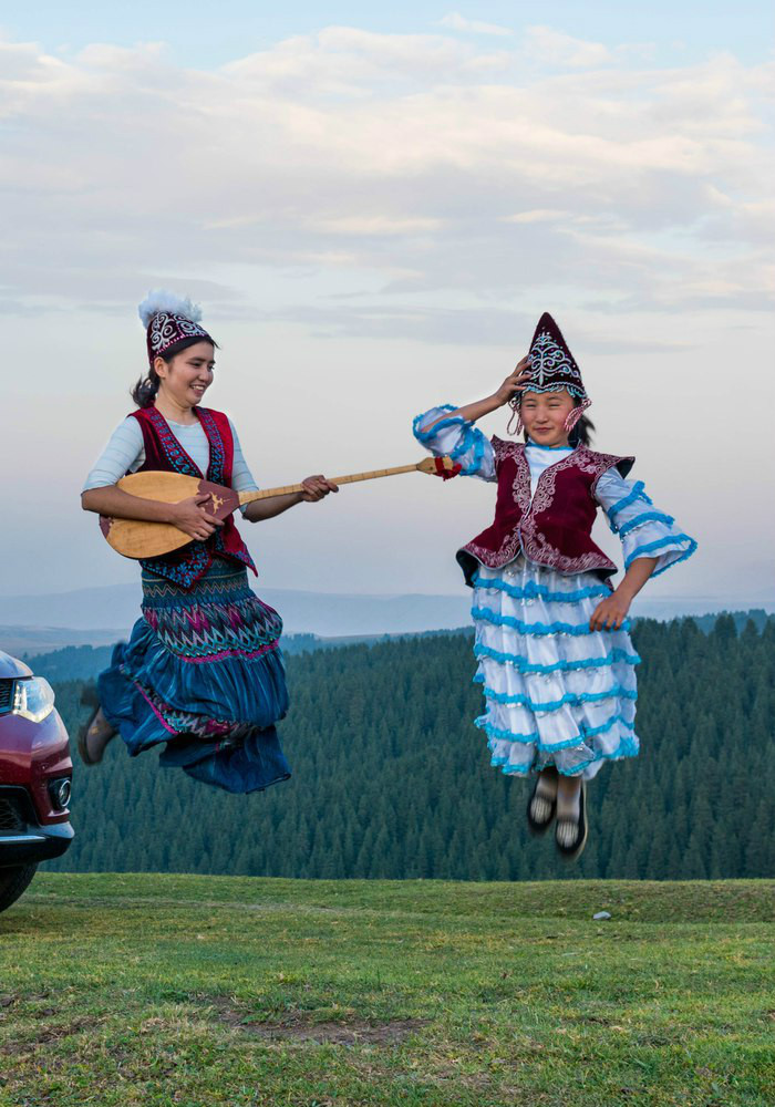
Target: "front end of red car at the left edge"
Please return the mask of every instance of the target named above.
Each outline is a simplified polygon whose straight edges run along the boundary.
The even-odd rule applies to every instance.
[[[72,841],[72,776],[51,685],[0,650],[0,911]]]

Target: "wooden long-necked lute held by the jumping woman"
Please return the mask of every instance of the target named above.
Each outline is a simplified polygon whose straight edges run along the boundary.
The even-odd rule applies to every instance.
[[[378,477],[392,477],[399,473],[433,473],[436,476],[451,474],[454,463],[448,457],[425,457],[414,465],[399,465],[392,469],[373,469],[370,473],[351,473],[343,477],[331,477],[334,484],[355,484],[358,480],[374,480]],[[188,477],[183,473],[166,473],[148,469],[145,473],[133,473],[122,477],[117,487],[131,496],[141,499],[155,499],[163,504],[178,504],[192,496],[208,496],[202,506],[209,515],[226,519],[244,504],[252,504],[257,499],[271,499],[273,496],[287,496],[290,493],[303,492],[301,484],[286,485],[282,488],[265,488],[262,492],[237,493],[224,485],[213,484],[200,477]],[[178,530],[168,523],[145,523],[142,519],[113,519],[100,516],[100,528],[107,542],[124,557],[151,558],[172,554],[194,541],[190,535]]]

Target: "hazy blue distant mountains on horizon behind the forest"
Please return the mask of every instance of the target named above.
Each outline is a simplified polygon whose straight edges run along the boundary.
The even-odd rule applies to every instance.
[[[277,608],[286,632],[322,638],[417,633],[454,630],[471,622],[471,592],[455,596],[358,596],[258,589]],[[63,645],[104,645],[125,638],[140,613],[138,584],[82,588],[46,596],[0,596],[0,648],[13,653],[40,653]],[[636,601],[633,614],[651,619],[701,615],[756,608],[775,612],[775,602],[760,598],[648,596]]]

